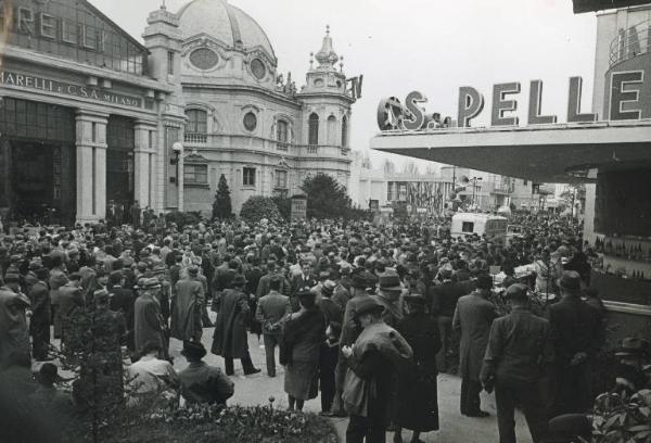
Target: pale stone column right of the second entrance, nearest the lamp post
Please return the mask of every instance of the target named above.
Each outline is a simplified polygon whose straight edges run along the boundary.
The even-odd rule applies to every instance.
[[[154,183],[156,182],[156,142],[157,127],[155,122],[137,121],[136,147],[133,149],[133,199],[140,207],[154,207]]]

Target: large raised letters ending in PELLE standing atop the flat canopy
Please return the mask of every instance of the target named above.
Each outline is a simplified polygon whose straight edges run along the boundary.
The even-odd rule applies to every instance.
[[[612,91],[610,94],[610,119],[640,118],[636,109],[640,105],[640,90],[642,89],[641,74],[613,72],[610,74]],[[567,123],[596,122],[595,113],[580,112],[583,79],[571,77],[567,92]],[[493,102],[490,109],[492,126],[518,126],[519,118],[510,113],[518,110],[516,94],[521,92],[518,81],[494,85]],[[426,114],[420,106],[427,99],[421,92],[410,92],[401,103],[399,99],[391,97],[383,99],[378,105],[378,126],[380,130],[422,130],[454,126],[451,118],[441,122],[438,114]],[[484,96],[475,88],[463,86],[459,88],[457,125],[470,127],[471,121],[484,111]],[[528,93],[528,125],[556,124],[556,115],[542,115],[542,80],[532,80]],[[625,110],[625,111],[622,111]]]

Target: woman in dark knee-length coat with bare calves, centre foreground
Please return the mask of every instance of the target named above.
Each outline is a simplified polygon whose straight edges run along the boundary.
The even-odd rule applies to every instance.
[[[297,298],[301,308],[284,325],[280,362],[285,365],[290,410],[302,410],[306,400],[317,397],[320,349],[326,341],[326,317],[316,305],[316,294],[301,291]]]

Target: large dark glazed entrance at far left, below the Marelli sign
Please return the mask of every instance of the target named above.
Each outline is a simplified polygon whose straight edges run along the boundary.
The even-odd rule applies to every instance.
[[[0,211],[10,221],[74,224],[75,118],[71,110],[11,98],[0,109]]]

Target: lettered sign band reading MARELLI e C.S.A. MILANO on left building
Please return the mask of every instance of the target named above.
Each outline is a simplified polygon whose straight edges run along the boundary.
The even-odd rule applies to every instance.
[[[51,78],[37,77],[10,71],[0,71],[0,86],[75,96],[122,106],[142,107],[142,99],[138,97],[123,96],[93,86],[65,84]]]

